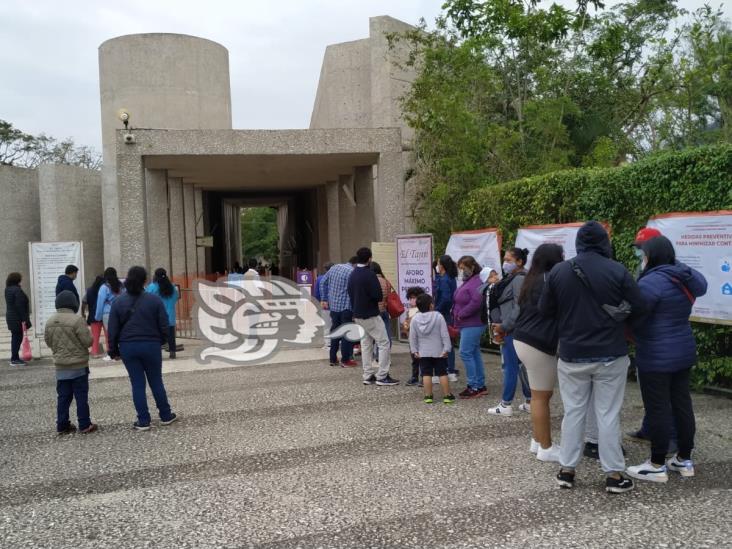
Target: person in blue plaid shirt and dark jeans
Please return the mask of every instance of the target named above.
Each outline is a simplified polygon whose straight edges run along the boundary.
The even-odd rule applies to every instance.
[[[356,257],[348,263],[333,265],[323,280],[320,281],[320,305],[323,310],[330,312],[330,331],[334,332],[341,324],[353,322],[351,299],[348,297],[348,279],[356,264]],[[338,350],[341,351],[341,361],[338,362]],[[353,360],[353,343],[345,337],[330,340],[330,365],[341,368],[354,368],[358,363]]]

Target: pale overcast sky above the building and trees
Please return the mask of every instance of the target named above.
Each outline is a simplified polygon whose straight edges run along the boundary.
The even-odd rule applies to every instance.
[[[228,48],[234,128],[306,128],[328,44],[367,37],[374,15],[430,23],[442,1],[1,0],[0,119],[101,150],[99,44],[175,32]]]

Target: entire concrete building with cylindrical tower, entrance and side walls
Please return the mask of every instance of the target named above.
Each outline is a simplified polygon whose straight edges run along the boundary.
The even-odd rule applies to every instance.
[[[410,230],[411,133],[399,99],[414,75],[387,42],[410,28],[374,17],[368,38],[328,46],[310,128],[300,130],[232,129],[219,44],[177,34],[104,42],[101,174],[0,167],[0,219],[16,235],[0,244],[0,269],[25,273],[29,241],[82,240],[87,280],[141,264],[185,283],[242,260],[248,206],[278,209],[283,274]]]

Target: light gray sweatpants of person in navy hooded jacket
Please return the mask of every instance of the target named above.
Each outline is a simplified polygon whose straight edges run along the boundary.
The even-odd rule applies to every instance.
[[[625,470],[620,442],[620,410],[625,397],[625,380],[630,359],[613,362],[577,363],[559,360],[557,372],[564,404],[560,464],[575,468],[582,458],[585,420],[588,413],[597,419],[600,463],[606,473]],[[589,410],[590,396],[594,410]]]

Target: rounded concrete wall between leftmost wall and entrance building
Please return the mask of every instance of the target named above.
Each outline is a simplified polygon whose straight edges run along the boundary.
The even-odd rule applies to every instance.
[[[102,177],[96,170],[44,164],[38,168],[41,240],[80,240],[85,283],[104,271]]]

